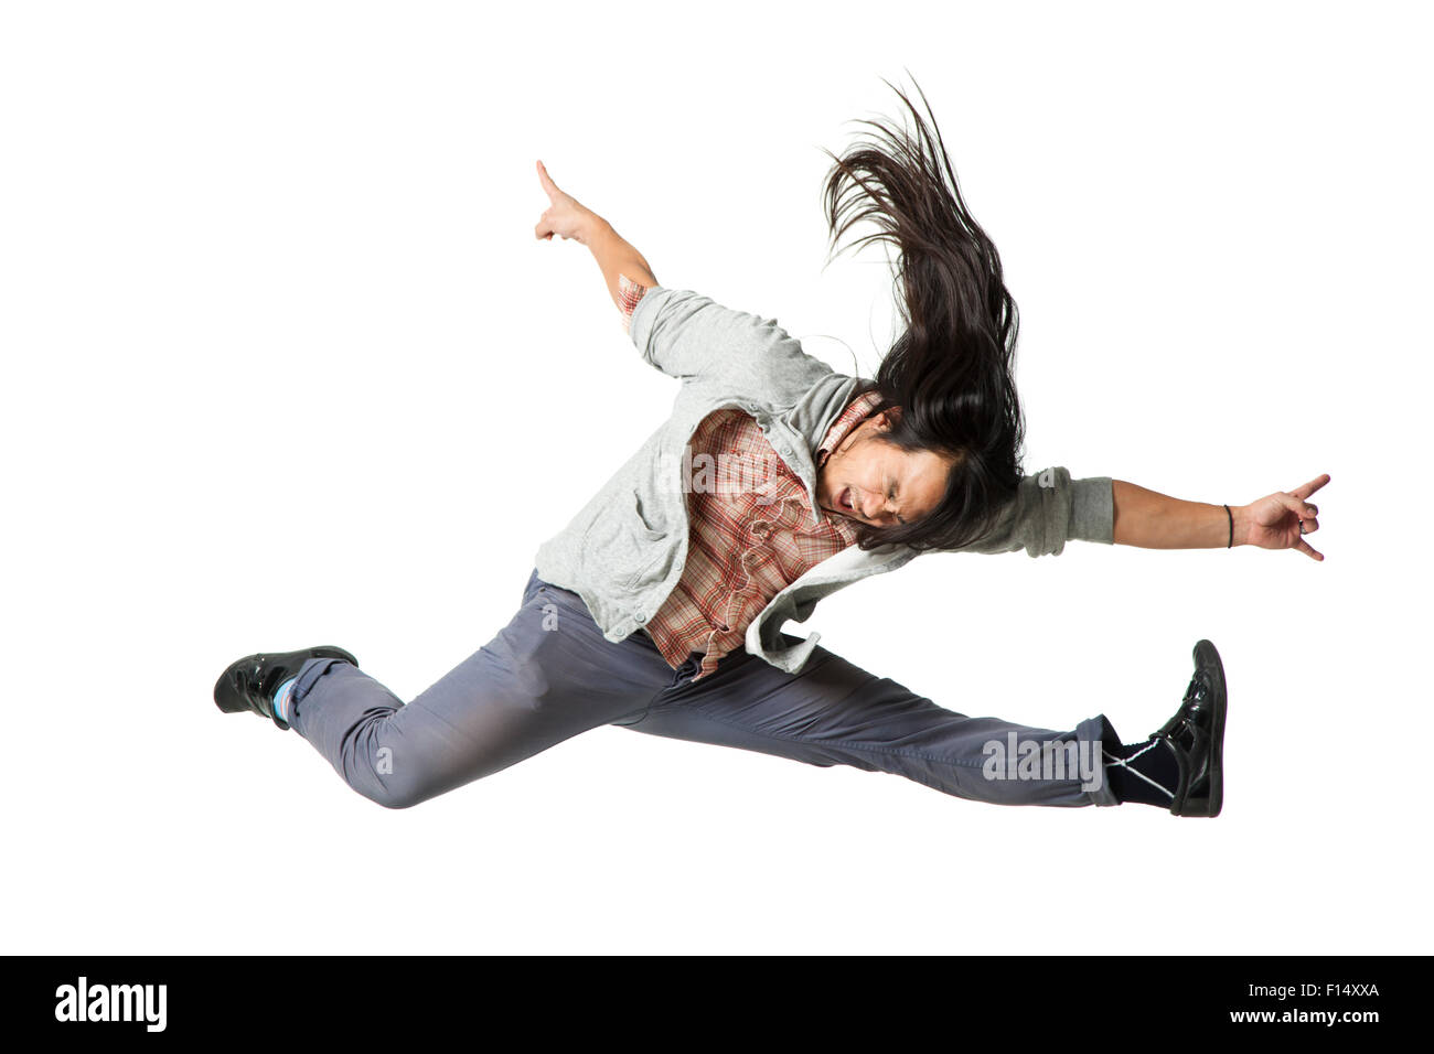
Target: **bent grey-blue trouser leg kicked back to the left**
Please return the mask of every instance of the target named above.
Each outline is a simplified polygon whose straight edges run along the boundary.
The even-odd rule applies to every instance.
[[[314,658],[290,695],[290,724],[350,787],[406,809],[635,718],[673,681],[650,640],[608,641],[575,594],[533,572],[512,621],[407,706],[357,667]]]

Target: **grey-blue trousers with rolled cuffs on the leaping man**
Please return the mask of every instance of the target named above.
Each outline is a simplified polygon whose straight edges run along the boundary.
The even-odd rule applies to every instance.
[[[290,724],[350,787],[390,809],[602,724],[892,773],[977,802],[1119,804],[1100,770],[1101,740],[1119,741],[1103,714],[1064,733],[967,717],[822,647],[797,674],[736,651],[694,684],[700,658],[674,671],[642,631],[608,641],[576,594],[533,571],[512,621],[407,706],[348,663],[311,658]],[[1051,744],[1044,769],[1024,743]],[[1080,750],[1094,757],[1098,786],[1071,757]]]

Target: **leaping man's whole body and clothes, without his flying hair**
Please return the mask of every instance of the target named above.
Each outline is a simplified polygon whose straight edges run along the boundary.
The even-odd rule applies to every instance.
[[[618,724],[989,803],[1219,815],[1226,685],[1209,641],[1195,647],[1176,714],[1123,744],[1103,714],[1065,731],[967,717],[817,647],[816,632],[782,632],[932,538],[962,538],[972,518],[946,513],[956,480],[977,472],[975,447],[912,440],[921,391],[896,403],[803,353],[776,320],[661,287],[542,162],[538,174],[551,208],[536,235],[592,251],[642,359],[681,380],[671,416],[538,549],[512,621],[407,706],[326,647],[237,661],[215,685],[222,711],[293,727],[348,786],[394,809]],[[1068,539],[1240,543],[1321,559],[1301,535],[1318,529],[1305,499],[1328,479],[1232,508],[1050,467],[1020,479],[978,536],[936,548],[1041,556]],[[863,531],[905,541],[865,548]]]

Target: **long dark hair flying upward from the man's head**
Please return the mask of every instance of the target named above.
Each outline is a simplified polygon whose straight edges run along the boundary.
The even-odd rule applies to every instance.
[[[935,118],[931,128],[906,93],[885,80],[915,118],[916,132],[875,120],[870,143],[837,158],[826,178],[832,245],[856,222],[878,229],[855,245],[886,241],[899,251],[896,285],[905,331],[876,379],[883,407],[901,407],[878,437],[903,450],[955,459],[941,505],[913,523],[858,523],[858,545],[955,549],[985,533],[1022,478],[1025,423],[1012,376],[1020,327],[1001,277],[1001,257],[971,218]],[[921,86],[916,86],[921,92]],[[921,100],[931,115],[926,93]]]

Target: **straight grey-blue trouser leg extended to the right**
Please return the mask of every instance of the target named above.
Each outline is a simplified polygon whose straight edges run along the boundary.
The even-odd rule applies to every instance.
[[[1101,739],[1114,734],[1104,716],[1064,733],[967,717],[822,647],[799,674],[747,652],[727,655],[706,680],[664,691],[631,727],[823,767],[893,773],[995,804],[1119,804],[1103,779]],[[1017,744],[1053,744],[1048,751],[1060,751],[1060,760],[1045,769],[1025,764],[1021,774],[1018,757],[1005,761],[1017,753],[1012,734]],[[997,770],[999,779],[992,777]]]

